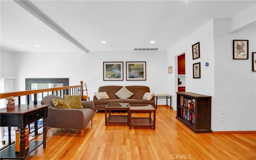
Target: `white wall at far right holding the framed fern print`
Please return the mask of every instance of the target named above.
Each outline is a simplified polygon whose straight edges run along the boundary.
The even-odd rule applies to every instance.
[[[256,130],[256,72],[252,72],[252,52],[256,52],[255,24],[229,33],[228,19],[214,19],[215,104],[212,130]],[[233,40],[249,40],[249,60],[233,60]],[[225,121],[220,122],[221,108]]]

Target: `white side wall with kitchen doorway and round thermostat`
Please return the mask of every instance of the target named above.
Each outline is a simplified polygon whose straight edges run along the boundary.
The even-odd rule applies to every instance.
[[[192,45],[197,42],[200,42],[200,58],[192,60]],[[172,106],[175,110],[178,91],[176,56],[184,52],[186,53],[186,92],[209,95],[214,100],[213,20],[168,50],[168,66],[173,66],[173,73],[168,74],[167,92],[174,95]],[[211,67],[205,67],[204,63],[209,61]],[[193,79],[193,63],[197,62],[201,62],[201,78]]]

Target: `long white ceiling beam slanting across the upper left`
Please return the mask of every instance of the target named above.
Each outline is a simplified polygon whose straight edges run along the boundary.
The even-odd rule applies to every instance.
[[[64,29],[62,29],[47,15],[40,11],[34,4],[29,1],[20,0],[14,0],[14,2],[19,5],[15,6],[16,11],[18,9],[19,14],[22,14],[26,19],[36,23],[41,28],[44,28],[47,32],[51,33],[53,36],[58,37],[61,41],[75,48],[77,51],[84,53],[89,52],[87,48],[80,44],[75,38],[70,36]],[[29,12],[32,16],[28,16],[27,12]]]

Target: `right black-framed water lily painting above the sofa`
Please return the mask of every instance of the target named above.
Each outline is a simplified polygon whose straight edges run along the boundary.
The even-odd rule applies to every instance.
[[[146,62],[126,62],[126,81],[145,81]]]

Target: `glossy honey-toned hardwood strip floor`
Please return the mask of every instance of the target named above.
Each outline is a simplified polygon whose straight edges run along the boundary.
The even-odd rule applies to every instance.
[[[195,134],[165,106],[158,105],[156,130],[105,126],[104,116],[96,113],[84,137],[80,130],[51,128],[46,149],[26,159],[256,159],[256,134]]]

